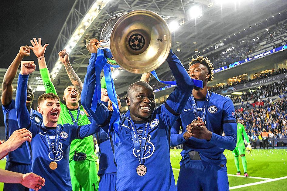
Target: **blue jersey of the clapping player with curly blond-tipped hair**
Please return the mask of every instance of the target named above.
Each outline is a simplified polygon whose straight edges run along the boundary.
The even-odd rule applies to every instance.
[[[198,114],[201,117],[205,99],[195,99],[195,102]],[[186,132],[186,126],[195,120],[192,108],[193,106],[190,97],[183,112],[180,114],[180,118],[177,120],[177,122],[180,122],[179,124],[183,127],[183,133]],[[226,96],[210,92],[210,100],[205,117],[205,126],[209,131],[222,136],[224,123],[236,123],[233,102]],[[178,131],[179,126],[173,126],[172,132],[178,133]],[[236,133],[236,131],[234,133]],[[173,141],[175,140],[171,140],[171,142]],[[226,164],[226,157],[223,154],[223,148],[214,145],[211,141],[191,137],[187,141],[183,141],[183,151],[181,152],[181,156],[183,158],[180,162],[181,165],[190,161],[189,152],[192,150],[199,152],[201,160],[207,163],[215,165]]]

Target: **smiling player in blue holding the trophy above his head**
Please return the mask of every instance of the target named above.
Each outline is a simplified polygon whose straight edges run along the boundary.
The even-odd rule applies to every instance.
[[[108,133],[112,112],[97,102],[91,109],[95,88],[96,39],[87,44],[91,52],[87,66],[81,102],[88,114]],[[102,50],[101,50],[102,51]],[[155,109],[155,94],[146,82],[135,82],[128,87],[126,104],[130,115],[122,114],[119,129],[111,127],[114,159],[117,166],[116,190],[175,190],[175,181],[169,157],[169,128],[182,112],[193,89],[190,79],[177,56],[167,58],[177,86],[164,104]],[[115,143],[116,136],[119,142]],[[143,141],[144,140],[144,141]]]

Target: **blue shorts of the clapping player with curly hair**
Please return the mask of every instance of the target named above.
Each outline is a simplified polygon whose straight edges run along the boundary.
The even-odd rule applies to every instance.
[[[183,164],[179,170],[176,188],[178,191],[229,190],[226,165],[216,166],[202,160]]]

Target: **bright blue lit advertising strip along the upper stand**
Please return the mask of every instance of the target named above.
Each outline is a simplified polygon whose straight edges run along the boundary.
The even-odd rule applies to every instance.
[[[278,47],[278,48],[275,48],[275,49],[272,49],[272,50],[269,50],[269,51],[260,53],[260,54],[258,54],[258,55],[255,55],[255,56],[253,56],[253,57],[246,58],[246,59],[244,59],[244,60],[240,60],[240,61],[234,62],[234,63],[230,64],[230,65],[228,66],[228,68],[233,68],[234,66],[241,65],[241,64],[244,64],[244,63],[249,62],[249,61],[251,61],[251,60],[261,58],[262,56],[266,56],[266,55],[269,55],[269,54],[272,54],[272,53],[275,53],[275,52],[279,52],[279,51],[282,51],[282,50],[285,50],[285,49],[287,49],[287,45],[283,45],[283,46],[280,46],[280,47]],[[220,72],[220,71],[222,71],[222,70],[224,70],[224,69],[227,69],[227,66],[214,69],[213,72],[214,72],[214,73],[217,73],[217,72]]]

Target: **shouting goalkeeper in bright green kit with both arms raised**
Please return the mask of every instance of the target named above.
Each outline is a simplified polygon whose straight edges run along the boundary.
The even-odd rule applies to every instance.
[[[42,47],[41,38],[39,38],[38,42],[36,38],[34,38],[31,40],[31,44],[33,46],[32,50],[34,54],[38,57],[40,73],[46,93],[52,92],[57,95],[55,86],[51,81],[44,56],[47,44]],[[60,51],[59,59],[65,66],[73,85],[69,85],[64,90],[64,102],[60,102],[61,112],[59,114],[58,123],[62,125],[69,123],[79,126],[90,124],[83,106],[79,106],[83,83],[73,70],[69,61],[69,53],[65,49]],[[98,190],[99,178],[97,176],[93,136],[72,141],[70,146],[69,164],[73,190]]]

